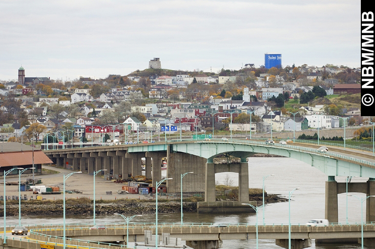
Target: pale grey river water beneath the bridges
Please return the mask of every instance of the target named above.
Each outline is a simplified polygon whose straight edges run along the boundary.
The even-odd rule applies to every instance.
[[[310,219],[324,219],[325,208],[325,182],[328,179],[316,168],[290,158],[249,158],[249,187],[262,188],[263,177],[269,176],[265,180],[265,190],[268,193],[280,194],[288,197],[289,191],[295,190],[291,198],[291,223],[305,224]],[[227,175],[233,182],[233,186],[238,186],[238,174],[225,172],[215,175],[216,182],[222,184],[226,181]],[[365,182],[368,178],[353,178],[352,182]],[[337,182],[345,182],[345,177],[336,177]],[[354,193],[358,197],[365,194]],[[365,206],[363,205],[363,215],[365,216]],[[346,194],[338,195],[338,221],[346,223]],[[289,224],[288,202],[276,203],[265,207],[265,224]],[[159,214],[159,223],[180,222],[180,213]],[[121,217],[117,215],[97,215],[97,224],[120,223]],[[258,223],[262,224],[263,212],[258,211]],[[155,222],[154,214],[136,217],[134,222]],[[231,214],[231,215],[208,215],[196,213],[184,213],[184,222],[204,222],[204,223],[249,223],[255,224],[256,216],[251,214]],[[92,217],[67,216],[66,223],[90,223]],[[348,222],[361,222],[361,203],[355,197],[348,197]],[[7,225],[18,224],[17,217],[7,217]],[[57,216],[28,216],[22,217],[22,224],[62,224],[62,217]],[[275,240],[259,240],[259,249],[280,249],[275,245]],[[250,249],[255,248],[255,240],[224,240],[223,249]],[[142,247],[137,247],[142,248]],[[312,240],[311,249],[357,249],[359,244],[352,245],[315,245]]]

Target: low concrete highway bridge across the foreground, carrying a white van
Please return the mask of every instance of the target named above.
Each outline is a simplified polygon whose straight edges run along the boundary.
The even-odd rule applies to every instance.
[[[275,244],[288,248],[288,225],[261,225],[258,226],[258,239],[274,239]],[[155,233],[154,224],[131,224],[129,226],[129,242],[145,242],[145,230]],[[249,224],[233,224],[228,227],[212,227],[210,224],[164,224],[158,227],[161,233],[170,237],[186,241],[187,246],[194,249],[220,248],[223,240],[249,240],[256,239],[256,226]],[[363,228],[364,244],[374,248],[375,224],[365,224]],[[87,227],[68,226],[66,230],[66,245],[69,248],[108,248],[118,249],[126,247],[126,227],[113,226],[106,229],[89,229]],[[27,238],[7,238],[3,248],[39,249],[41,245],[51,245],[54,249],[62,248],[62,226],[47,228],[37,226],[30,230]],[[161,235],[159,235],[161,236]],[[291,226],[292,248],[307,248],[311,240],[361,238],[359,224],[331,224],[326,227],[307,227],[304,225]],[[162,244],[162,238],[158,239]],[[372,245],[372,246],[371,246]],[[155,241],[147,246],[155,246]]]

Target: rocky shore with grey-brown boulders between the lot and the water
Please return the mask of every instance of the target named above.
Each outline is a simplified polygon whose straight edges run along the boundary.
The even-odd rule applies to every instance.
[[[266,203],[277,203],[286,202],[288,199],[279,197],[278,195],[266,195]],[[228,199],[218,199],[217,201],[234,201]],[[262,195],[250,195],[250,201],[256,201],[257,205],[262,205]],[[53,202],[44,201],[34,201],[22,203],[21,211],[23,215],[62,215],[63,205],[54,204]],[[181,203],[178,201],[168,201],[158,203],[159,213],[179,213],[181,211]],[[2,207],[2,206],[1,206]],[[155,202],[145,202],[138,200],[119,200],[113,203],[100,203],[96,204],[96,214],[113,214],[121,213],[125,215],[134,214],[152,214],[155,213]],[[197,203],[196,202],[184,202],[183,203],[184,212],[196,212]],[[17,216],[18,215],[18,205],[6,205],[6,215],[7,216]],[[65,204],[66,215],[92,215],[93,214],[93,204],[83,203],[83,204]],[[3,208],[0,208],[0,216],[3,215]]]

